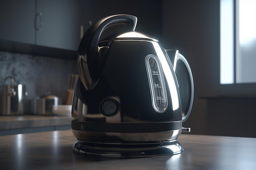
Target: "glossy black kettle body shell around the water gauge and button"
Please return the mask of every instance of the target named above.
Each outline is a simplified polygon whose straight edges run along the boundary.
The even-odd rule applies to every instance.
[[[164,49],[161,49],[157,42],[117,39],[102,45],[109,45],[110,48],[102,62],[100,78],[90,90],[86,90],[81,79],[78,80],[73,99],[73,120],[163,123],[182,120],[175,73],[171,62],[164,55]],[[149,54],[159,58],[163,82],[166,82],[164,96],[168,99],[168,107],[163,113],[155,111],[152,105],[152,93],[145,65],[145,57]],[[107,118],[99,111],[102,101],[106,98],[115,99],[120,104],[119,112]]]

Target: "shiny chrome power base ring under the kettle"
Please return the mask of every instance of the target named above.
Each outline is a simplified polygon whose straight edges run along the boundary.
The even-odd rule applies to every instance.
[[[73,152],[98,157],[137,158],[176,155],[183,152],[183,148],[177,140],[145,144],[76,141]]]

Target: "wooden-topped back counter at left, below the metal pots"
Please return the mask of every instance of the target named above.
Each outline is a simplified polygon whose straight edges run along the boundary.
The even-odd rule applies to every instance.
[[[64,130],[71,128],[71,116],[0,115],[0,135]]]

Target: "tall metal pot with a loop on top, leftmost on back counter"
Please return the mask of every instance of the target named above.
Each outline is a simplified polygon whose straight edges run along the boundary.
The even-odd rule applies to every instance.
[[[6,85],[7,79],[11,79],[11,84]],[[25,85],[14,85],[12,77],[4,79],[1,115],[23,115],[24,114],[24,97],[28,95]]]

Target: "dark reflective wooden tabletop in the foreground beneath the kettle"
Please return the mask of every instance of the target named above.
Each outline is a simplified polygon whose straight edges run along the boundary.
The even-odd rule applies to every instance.
[[[72,152],[71,130],[0,136],[7,170],[255,170],[256,138],[180,135],[178,155],[116,159]]]

